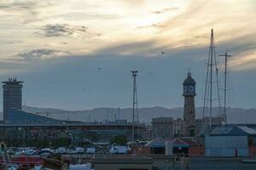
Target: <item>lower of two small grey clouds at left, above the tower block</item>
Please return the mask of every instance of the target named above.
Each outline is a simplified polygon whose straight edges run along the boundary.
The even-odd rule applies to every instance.
[[[32,60],[32,59],[49,59],[57,56],[63,56],[70,54],[68,51],[56,50],[56,49],[46,49],[38,48],[32,49],[30,51],[17,54],[20,59]]]

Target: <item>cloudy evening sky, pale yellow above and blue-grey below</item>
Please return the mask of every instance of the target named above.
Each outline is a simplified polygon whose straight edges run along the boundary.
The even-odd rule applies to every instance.
[[[0,80],[24,81],[24,105],[131,107],[137,70],[138,106],[172,108],[183,106],[190,69],[201,106],[213,29],[216,53],[232,55],[230,106],[255,108],[255,8],[255,0],[0,0]]]

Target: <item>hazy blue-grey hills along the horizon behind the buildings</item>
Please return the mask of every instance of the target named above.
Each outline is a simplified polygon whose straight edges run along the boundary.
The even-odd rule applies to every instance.
[[[31,106],[23,106],[24,111],[50,116],[55,119],[82,121],[82,122],[95,122],[104,120],[127,119],[131,121],[131,108],[120,109],[118,114],[117,108],[96,108],[93,110],[85,111],[64,111],[51,108],[37,108]],[[157,116],[172,116],[174,119],[183,116],[183,108],[164,108],[164,107],[150,107],[138,109],[139,119],[141,122],[150,122],[153,117]],[[202,108],[196,108],[196,117],[202,117]],[[218,108],[214,108],[213,116],[218,116]],[[256,123],[256,109],[229,109],[228,110],[229,123]]]

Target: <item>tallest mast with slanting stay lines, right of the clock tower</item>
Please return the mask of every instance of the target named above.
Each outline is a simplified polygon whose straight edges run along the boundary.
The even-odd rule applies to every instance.
[[[219,87],[218,87],[218,67],[217,67],[217,59],[216,59],[216,52],[215,52],[215,45],[214,45],[214,36],[213,36],[213,29],[211,32],[211,39],[210,39],[210,47],[208,52],[208,62],[207,62],[207,80],[205,86],[205,94],[204,94],[204,104],[203,104],[203,117],[205,118],[207,113],[207,104],[209,102],[210,105],[210,120],[209,120],[209,127],[212,127],[212,96],[213,96],[213,76],[215,69],[215,76],[216,76],[216,83],[217,83],[217,97],[218,97],[218,108],[220,113],[220,97],[219,97]]]

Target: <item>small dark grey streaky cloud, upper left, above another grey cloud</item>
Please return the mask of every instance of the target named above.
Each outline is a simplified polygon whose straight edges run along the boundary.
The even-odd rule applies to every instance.
[[[81,35],[87,31],[86,26],[70,26],[67,24],[55,24],[55,25],[46,25],[38,31],[39,35],[44,37],[65,37],[72,35]]]

